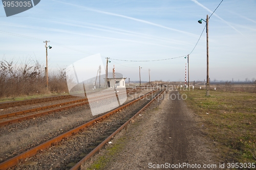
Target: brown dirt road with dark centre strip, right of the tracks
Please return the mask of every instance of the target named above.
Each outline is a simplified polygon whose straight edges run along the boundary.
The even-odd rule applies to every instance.
[[[125,145],[104,169],[219,169],[214,144],[203,137],[178,91],[136,121],[121,134]]]

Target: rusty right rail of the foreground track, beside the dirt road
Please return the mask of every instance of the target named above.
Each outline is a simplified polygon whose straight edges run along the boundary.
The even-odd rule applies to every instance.
[[[104,145],[109,142],[118,132],[120,132],[122,129],[124,129],[136,116],[138,116],[145,108],[150,105],[154,100],[156,100],[160,94],[164,92],[165,89],[163,89],[157,96],[155,96],[154,99],[152,99],[149,103],[147,103],[142,109],[140,109],[132,118],[127,120],[121,127],[119,127],[115,132],[113,132],[108,138],[106,138],[104,141],[102,141],[96,148],[94,148],[87,156],[85,156],[83,159],[81,159],[78,163],[76,163],[70,170],[77,170],[80,168],[81,164],[88,159],[90,159],[92,156],[94,156]]]

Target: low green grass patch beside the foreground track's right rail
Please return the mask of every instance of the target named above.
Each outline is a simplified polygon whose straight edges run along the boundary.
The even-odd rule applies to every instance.
[[[125,146],[126,138],[122,137],[115,141],[112,147],[106,149],[106,153],[103,156],[97,158],[95,162],[88,167],[88,170],[104,169],[109,162],[112,162],[114,156],[118,154]]]

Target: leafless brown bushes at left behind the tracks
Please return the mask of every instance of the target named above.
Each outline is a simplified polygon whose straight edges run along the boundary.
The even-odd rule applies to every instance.
[[[65,76],[65,69],[49,76],[51,91],[67,91]],[[30,59],[21,64],[13,59],[0,61],[0,98],[35,93],[49,93],[46,89],[45,69],[39,61]]]

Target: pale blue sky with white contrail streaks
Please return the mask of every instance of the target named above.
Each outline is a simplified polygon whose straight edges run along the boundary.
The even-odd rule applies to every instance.
[[[104,69],[110,58],[109,72],[115,66],[116,72],[131,81],[139,80],[139,67],[142,81],[149,81],[149,69],[151,81],[184,81],[184,57],[189,54],[190,82],[204,81],[206,23],[198,20],[209,15],[210,80],[252,80],[256,78],[256,1],[220,3],[44,0],[9,17],[1,6],[0,59],[38,60],[45,65],[47,40],[52,46],[48,48],[49,72],[97,55]],[[90,74],[95,77],[97,72]]]

